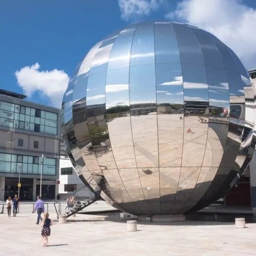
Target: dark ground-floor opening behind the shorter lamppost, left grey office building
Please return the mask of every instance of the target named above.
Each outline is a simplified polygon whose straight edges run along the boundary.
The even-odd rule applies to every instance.
[[[18,194],[18,182],[18,178],[5,178],[5,200],[9,195],[13,198],[15,194]],[[20,199],[23,201],[31,201],[33,199],[33,179],[21,179]]]

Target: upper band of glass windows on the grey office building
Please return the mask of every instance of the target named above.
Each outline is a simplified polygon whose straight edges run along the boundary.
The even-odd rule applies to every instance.
[[[0,101],[0,126],[57,134],[56,113]]]

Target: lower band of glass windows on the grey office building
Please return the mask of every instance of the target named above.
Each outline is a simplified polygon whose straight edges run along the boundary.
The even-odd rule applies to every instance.
[[[23,174],[41,173],[41,164],[38,157],[0,153],[0,172]],[[56,175],[56,159],[43,160],[43,175]]]

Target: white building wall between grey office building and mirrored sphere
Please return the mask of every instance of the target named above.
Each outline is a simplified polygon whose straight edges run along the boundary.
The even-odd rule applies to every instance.
[[[65,184],[76,184],[76,189],[79,189],[84,186],[84,183],[81,181],[81,179],[78,177],[76,174],[74,168],[73,168],[73,173],[72,175],[62,175],[61,174],[61,169],[65,167],[73,167],[71,161],[69,159],[60,159],[60,174],[59,174],[59,194],[67,194],[68,192],[64,191],[64,185]]]

